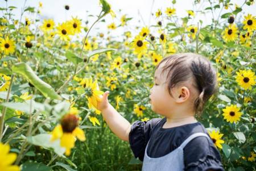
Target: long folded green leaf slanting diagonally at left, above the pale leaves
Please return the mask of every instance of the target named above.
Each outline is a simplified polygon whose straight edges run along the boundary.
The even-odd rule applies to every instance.
[[[14,73],[21,74],[23,77],[25,77],[44,95],[44,97],[49,97],[51,99],[62,99],[50,85],[36,76],[34,71],[26,63],[20,62],[18,64],[14,64],[11,69]]]

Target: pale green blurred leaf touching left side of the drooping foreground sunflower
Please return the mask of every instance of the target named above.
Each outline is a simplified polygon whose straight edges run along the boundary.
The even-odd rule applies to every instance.
[[[39,145],[46,149],[53,149],[53,151],[59,155],[63,156],[65,148],[60,146],[60,140],[51,141],[51,135],[49,134],[39,134],[36,136],[27,137],[28,143]]]

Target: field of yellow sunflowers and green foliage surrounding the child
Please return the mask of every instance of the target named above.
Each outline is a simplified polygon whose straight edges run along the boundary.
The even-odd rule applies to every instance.
[[[197,120],[225,170],[256,170],[256,16],[243,10],[255,11],[254,0],[195,0],[195,9],[179,9],[184,16],[173,0],[151,10],[150,25],[114,11],[107,0],[99,1],[99,14],[89,11],[90,22],[71,15],[62,23],[40,18],[42,2],[26,2],[0,3],[1,171],[141,170],[129,143],[104,122],[97,101],[109,90],[109,102],[130,123],[161,117],[148,98],[155,66],[182,52],[204,55],[218,71],[218,93]],[[205,13],[210,24],[195,21]],[[99,23],[108,31],[96,29]]]

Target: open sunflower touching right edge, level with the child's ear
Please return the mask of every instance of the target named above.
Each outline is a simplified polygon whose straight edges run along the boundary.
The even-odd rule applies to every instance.
[[[243,89],[251,90],[251,86],[255,85],[255,79],[256,76],[254,75],[255,73],[252,72],[250,69],[249,70],[239,70],[239,72],[236,72],[236,81],[238,85],[240,85]]]

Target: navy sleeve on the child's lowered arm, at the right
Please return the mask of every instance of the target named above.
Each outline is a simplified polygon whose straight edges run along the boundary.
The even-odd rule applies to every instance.
[[[218,149],[207,137],[199,136],[184,148],[185,171],[224,171]]]

